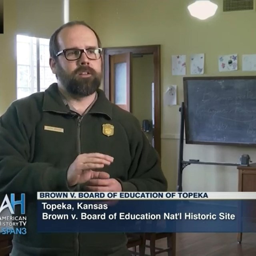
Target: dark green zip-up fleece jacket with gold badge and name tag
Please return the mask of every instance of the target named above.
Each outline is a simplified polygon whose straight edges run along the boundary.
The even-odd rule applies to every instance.
[[[113,156],[104,171],[121,183],[123,191],[167,190],[158,154],[138,120],[112,104],[102,90],[97,92],[84,116],[64,104],[57,84],[14,101],[1,116],[0,193],[26,193],[27,234],[14,236],[11,255],[122,255],[125,234],[36,232],[36,192],[69,191],[67,170],[79,154]],[[111,136],[104,124],[112,125]]]

